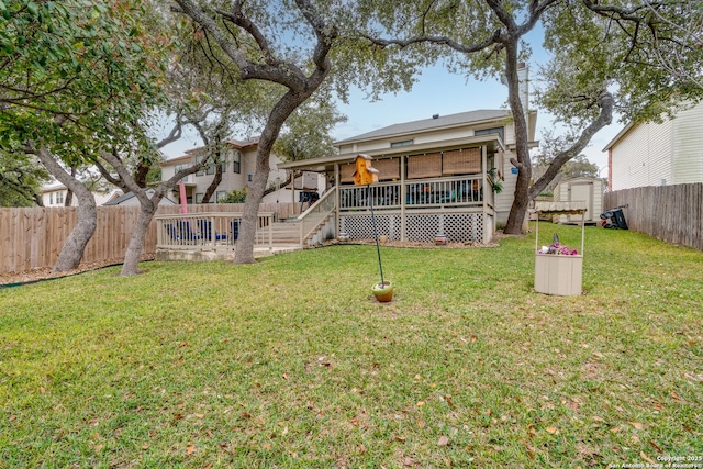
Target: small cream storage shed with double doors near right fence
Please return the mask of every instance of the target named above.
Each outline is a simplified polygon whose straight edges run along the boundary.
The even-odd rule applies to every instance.
[[[555,202],[585,202],[585,213],[580,215],[554,215],[554,223],[598,224],[603,212],[605,183],[598,178],[573,178],[560,181],[554,188]]]

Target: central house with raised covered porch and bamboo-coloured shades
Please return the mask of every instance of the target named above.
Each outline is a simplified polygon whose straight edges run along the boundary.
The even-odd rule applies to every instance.
[[[526,102],[526,96],[525,102]],[[535,112],[527,112],[534,143]],[[335,156],[279,165],[324,174],[320,205],[328,203],[334,232],[350,239],[372,238],[371,209],[379,235],[389,239],[488,243],[505,223],[517,169],[512,114],[478,110],[378,129],[335,143]],[[371,157],[378,183],[354,185],[354,161]],[[498,193],[494,187],[502,186]],[[332,199],[333,202],[328,202]]]

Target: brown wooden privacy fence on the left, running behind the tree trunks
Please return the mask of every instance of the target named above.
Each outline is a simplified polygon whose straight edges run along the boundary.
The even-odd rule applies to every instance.
[[[189,213],[242,212],[243,203],[188,205]],[[294,203],[263,203],[259,212],[293,215]],[[98,206],[98,225],[81,263],[122,261],[140,214],[138,206]],[[159,206],[158,215],[180,213],[180,205]],[[0,209],[0,273],[52,267],[76,225],[77,208]],[[143,254],[156,252],[156,222],[146,233]]]

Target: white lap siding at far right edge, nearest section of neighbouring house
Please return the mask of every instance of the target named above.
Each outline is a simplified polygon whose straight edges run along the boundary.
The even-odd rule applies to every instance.
[[[669,183],[703,181],[703,105],[677,114],[671,121],[673,142],[673,177]]]

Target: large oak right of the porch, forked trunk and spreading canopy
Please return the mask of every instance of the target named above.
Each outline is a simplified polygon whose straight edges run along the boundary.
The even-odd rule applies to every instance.
[[[680,42],[674,25],[687,20],[679,9],[685,1],[656,5],[641,1],[535,0],[524,4],[499,0],[369,0],[356,16],[367,19],[364,34],[380,47],[444,56],[450,69],[477,78],[505,78],[516,138],[512,163],[518,168],[505,232],[517,234],[529,201],[563,164],[581,153],[598,131],[612,122],[614,111],[624,119],[660,119],[677,102],[700,99],[700,90],[671,77],[652,55],[655,49],[665,53]],[[652,21],[652,5],[667,22]],[[553,59],[545,67],[545,88],[537,93],[537,102],[570,125],[573,138],[531,186],[532,164],[517,65],[528,59],[526,34],[538,23]],[[421,45],[425,48],[419,52],[416,47]],[[701,64],[700,52],[694,49],[684,51],[688,69]]]

